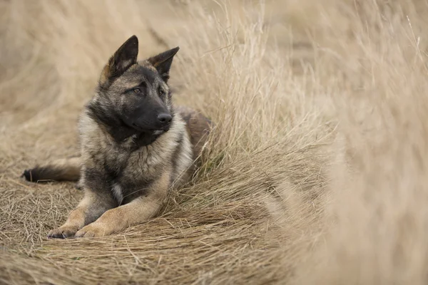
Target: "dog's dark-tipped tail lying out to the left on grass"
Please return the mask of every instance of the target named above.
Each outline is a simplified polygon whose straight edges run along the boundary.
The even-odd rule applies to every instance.
[[[81,158],[70,157],[54,160],[46,165],[37,165],[29,170],[24,170],[22,176],[31,182],[44,181],[77,181],[81,172]]]

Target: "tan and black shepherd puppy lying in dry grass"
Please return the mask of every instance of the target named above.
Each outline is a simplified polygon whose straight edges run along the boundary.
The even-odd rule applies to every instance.
[[[137,61],[131,36],[103,68],[79,120],[80,157],[25,170],[29,181],[79,180],[84,197],[48,237],[101,237],[154,217],[187,182],[210,120],[173,108],[168,78],[178,47]]]

